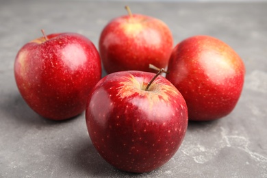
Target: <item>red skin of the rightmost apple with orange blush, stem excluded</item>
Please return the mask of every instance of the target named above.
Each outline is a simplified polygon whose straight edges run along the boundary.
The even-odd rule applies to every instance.
[[[227,116],[244,84],[245,67],[240,56],[211,36],[192,36],[177,44],[168,71],[166,79],[186,100],[189,120]]]

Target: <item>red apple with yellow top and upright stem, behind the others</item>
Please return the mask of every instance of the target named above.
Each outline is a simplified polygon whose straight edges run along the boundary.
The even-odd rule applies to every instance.
[[[99,39],[99,53],[107,73],[148,71],[149,64],[166,68],[173,49],[168,26],[142,14],[119,16],[108,23]]]

